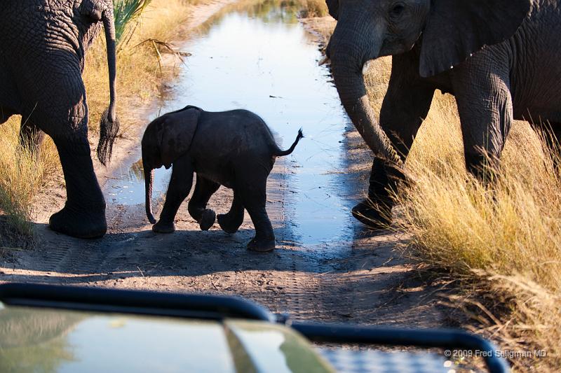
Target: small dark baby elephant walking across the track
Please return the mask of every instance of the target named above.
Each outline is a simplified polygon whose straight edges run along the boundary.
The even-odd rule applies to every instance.
[[[142,163],[146,180],[146,214],[154,232],[171,233],[177,209],[189,195],[193,173],[197,180],[189,201],[189,214],[208,230],[216,214],[207,209],[210,196],[220,185],[234,190],[228,213],[218,216],[222,230],[234,233],[243,223],[243,209],[250,213],[255,237],[253,251],[275,248],[275,234],[265,210],[266,182],[276,157],[289,155],[304,137],[299,130],[288,150],[280,150],[271,130],[255,113],[233,110],[211,113],[195,106],[167,113],[151,122],[142,137]],[[151,209],[154,169],[173,164],[165,204],[156,223]]]

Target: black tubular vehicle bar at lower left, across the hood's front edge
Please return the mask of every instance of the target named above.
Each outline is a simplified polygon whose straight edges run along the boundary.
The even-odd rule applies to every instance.
[[[93,312],[118,312],[223,320],[243,318],[273,323],[275,316],[240,297],[154,293],[33,283],[0,285],[0,301],[14,306],[48,307]]]

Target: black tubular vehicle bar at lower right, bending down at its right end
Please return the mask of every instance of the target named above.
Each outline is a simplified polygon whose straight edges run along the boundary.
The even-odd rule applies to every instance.
[[[485,351],[485,364],[490,373],[507,373],[510,371],[506,360],[496,354],[498,349],[494,344],[477,335],[461,330],[408,330],[297,322],[293,322],[290,326],[313,342]]]

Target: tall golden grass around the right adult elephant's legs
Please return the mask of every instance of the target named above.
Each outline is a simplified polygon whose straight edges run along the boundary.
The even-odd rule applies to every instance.
[[[367,76],[377,110],[390,69],[381,59]],[[396,214],[410,255],[459,281],[488,335],[506,349],[547,351],[513,359],[520,371],[561,366],[561,158],[543,136],[515,122],[485,186],[466,171],[454,97],[437,92],[407,159],[416,183]]]

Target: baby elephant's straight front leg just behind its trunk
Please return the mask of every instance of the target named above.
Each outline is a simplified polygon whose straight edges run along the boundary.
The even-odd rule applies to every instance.
[[[191,157],[180,157],[173,163],[173,170],[168,185],[168,192],[165,194],[162,213],[158,223],[152,226],[152,230],[157,233],[175,232],[173,220],[183,201],[189,195],[193,185],[193,162]]]

